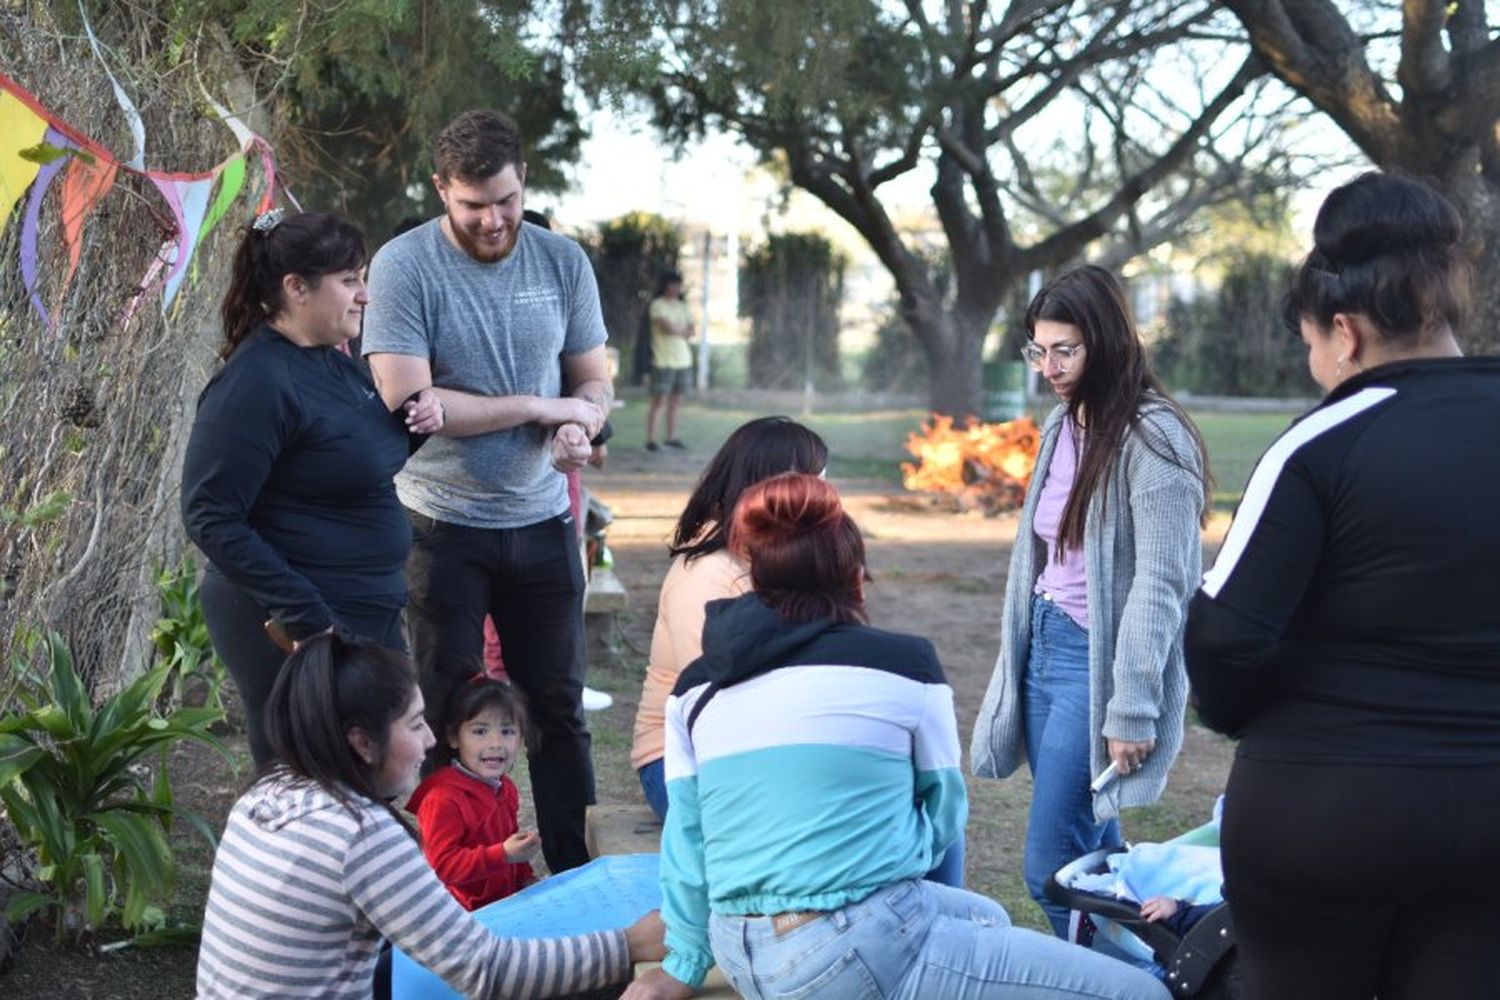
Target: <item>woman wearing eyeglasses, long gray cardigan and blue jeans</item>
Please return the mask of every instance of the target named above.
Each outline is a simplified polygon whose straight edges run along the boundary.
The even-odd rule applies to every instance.
[[[1113,274],[1054,277],[1026,310],[1026,336],[1022,357],[1059,405],[1022,508],[970,759],[981,778],[1030,763],[1026,888],[1065,937],[1047,877],[1119,846],[1119,810],[1161,796],[1182,745],[1182,621],[1209,475]]]

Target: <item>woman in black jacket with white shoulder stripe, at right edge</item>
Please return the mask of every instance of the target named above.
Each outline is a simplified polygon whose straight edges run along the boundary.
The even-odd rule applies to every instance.
[[[1250,997],[1494,997],[1500,361],[1461,357],[1461,222],[1413,180],[1323,202],[1288,295],[1328,397],[1262,457],[1186,628],[1239,738],[1226,897]]]

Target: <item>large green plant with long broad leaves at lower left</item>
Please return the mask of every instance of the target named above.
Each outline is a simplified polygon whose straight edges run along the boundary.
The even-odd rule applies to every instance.
[[[36,852],[39,888],[14,895],[6,918],[40,915],[58,940],[80,940],[114,921],[138,934],[162,931],[172,820],[213,840],[207,823],[174,807],[166,753],[195,739],[228,760],[208,733],[222,712],[159,711],[171,678],[165,663],[94,708],[57,634],[33,636],[12,673],[15,708],[0,715],[0,804]]]

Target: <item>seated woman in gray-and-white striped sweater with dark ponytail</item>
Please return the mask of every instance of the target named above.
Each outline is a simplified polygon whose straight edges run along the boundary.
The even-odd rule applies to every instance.
[[[333,634],[286,661],[266,711],[279,765],[230,814],[198,952],[200,997],[369,997],[381,939],[466,997],[548,997],[662,957],[624,931],[495,937],[448,895],[390,805],[432,747],[411,663]]]

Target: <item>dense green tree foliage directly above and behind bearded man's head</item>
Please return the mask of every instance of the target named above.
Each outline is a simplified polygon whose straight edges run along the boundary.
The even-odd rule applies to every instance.
[[[282,168],[309,208],[344,211],[382,241],[441,211],[432,139],[459,111],[516,118],[528,184],[566,187],[585,129],[558,27],[574,0],[158,0],[180,60],[230,48],[274,109]]]

